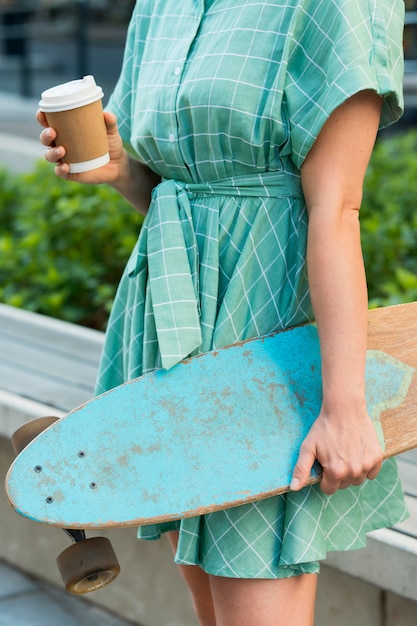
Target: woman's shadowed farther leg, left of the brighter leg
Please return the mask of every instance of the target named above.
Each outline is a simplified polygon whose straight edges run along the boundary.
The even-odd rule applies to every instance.
[[[178,533],[167,533],[174,554],[177,550]],[[196,565],[178,565],[182,577],[191,592],[194,610],[201,626],[216,626],[210,578]]]

